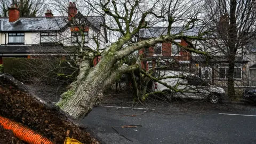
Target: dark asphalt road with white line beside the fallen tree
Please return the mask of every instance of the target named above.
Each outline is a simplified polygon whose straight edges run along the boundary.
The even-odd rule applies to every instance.
[[[181,115],[97,107],[82,123],[106,143],[256,143],[256,107]]]

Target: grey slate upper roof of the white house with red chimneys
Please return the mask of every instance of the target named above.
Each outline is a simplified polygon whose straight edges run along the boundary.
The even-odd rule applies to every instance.
[[[104,22],[101,16],[87,16],[87,20],[95,27],[100,29],[100,24]],[[15,22],[9,22],[9,18],[0,18],[1,31],[49,31],[61,30],[67,26],[68,17],[31,17],[20,18]]]

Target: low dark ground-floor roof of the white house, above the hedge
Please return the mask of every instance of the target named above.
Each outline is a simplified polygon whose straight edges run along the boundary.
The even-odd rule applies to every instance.
[[[0,46],[0,53],[67,53],[63,46],[8,45]]]

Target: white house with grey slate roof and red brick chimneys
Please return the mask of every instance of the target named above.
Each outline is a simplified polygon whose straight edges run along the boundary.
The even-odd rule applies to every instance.
[[[65,57],[75,52],[75,46],[95,50],[96,43],[98,49],[108,43],[106,29],[101,26],[105,19],[84,16],[74,2],[68,4],[66,17],[54,17],[51,10],[45,17],[20,18],[19,13],[18,5],[12,4],[9,17],[0,18],[0,63],[3,57]]]

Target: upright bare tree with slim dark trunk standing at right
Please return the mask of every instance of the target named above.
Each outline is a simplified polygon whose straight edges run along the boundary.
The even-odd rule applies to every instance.
[[[246,51],[255,37],[256,7],[253,0],[206,0],[206,15],[213,31],[210,46],[228,61],[228,95],[235,95],[234,67],[238,53]]]

